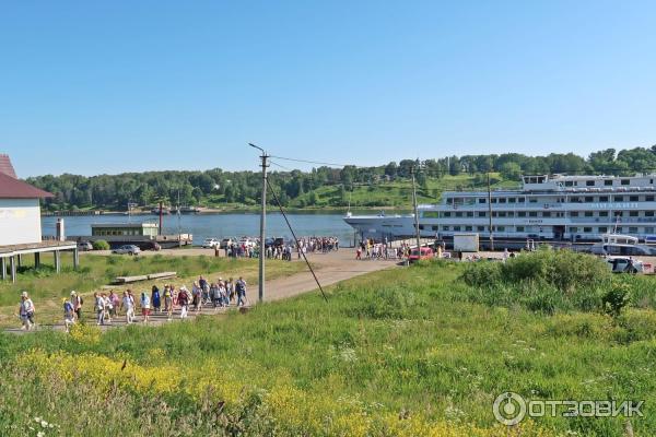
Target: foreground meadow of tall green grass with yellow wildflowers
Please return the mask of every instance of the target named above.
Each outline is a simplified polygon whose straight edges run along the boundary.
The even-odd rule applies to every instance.
[[[527,262],[553,261],[541,257],[504,273],[518,277]],[[470,285],[491,271],[479,265],[476,273],[469,269],[478,265],[447,262],[383,271],[330,287],[328,303],[305,295],[221,320],[103,335],[92,328],[2,334],[0,434],[40,430],[37,417],[46,435],[624,435],[624,418],[506,428],[491,406],[507,390],[645,400],[644,417],[631,425],[635,436],[656,434],[654,279],[581,285],[586,272],[561,281],[546,271]],[[618,281],[635,297],[610,317],[601,296]],[[566,296],[549,304],[540,286]],[[575,297],[583,290],[593,297]]]

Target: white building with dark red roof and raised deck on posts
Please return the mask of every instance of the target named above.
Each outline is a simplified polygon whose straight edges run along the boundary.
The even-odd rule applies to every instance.
[[[0,154],[0,270],[1,277],[8,274],[16,281],[16,272],[23,265],[24,256],[33,255],[36,268],[42,253],[52,253],[55,269],[61,268],[61,252],[73,252],[73,264],[78,267],[78,245],[66,241],[63,229],[57,240],[42,239],[40,200],[51,198],[47,191],[17,179],[8,155]]]

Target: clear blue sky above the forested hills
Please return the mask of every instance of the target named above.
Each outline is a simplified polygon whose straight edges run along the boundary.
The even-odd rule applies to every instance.
[[[248,142],[361,165],[651,146],[655,17],[654,1],[4,1],[0,152],[26,177],[256,169]]]

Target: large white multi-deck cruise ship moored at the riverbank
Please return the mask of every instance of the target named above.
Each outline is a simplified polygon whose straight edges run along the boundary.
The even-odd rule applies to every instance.
[[[527,239],[560,244],[595,243],[609,233],[652,243],[656,239],[656,175],[523,176],[522,189],[445,191],[437,204],[422,204],[422,237],[444,240],[478,233],[482,245],[492,235],[497,247]],[[489,202],[488,199],[491,199]],[[395,239],[414,235],[414,216],[347,216],[362,238]],[[397,232],[398,231],[398,232]]]

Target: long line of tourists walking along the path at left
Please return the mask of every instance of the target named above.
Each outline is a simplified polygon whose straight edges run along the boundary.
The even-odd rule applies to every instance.
[[[186,285],[176,287],[165,284],[162,288],[153,285],[150,291],[136,293],[126,290],[121,295],[114,290],[109,293],[96,292],[93,295],[93,314],[96,324],[110,324],[118,318],[125,317],[130,324],[137,320],[137,314],[141,314],[141,321],[148,323],[152,314],[166,315],[167,320],[173,319],[175,309],[179,309],[179,318],[186,319],[189,311],[200,312],[202,307],[226,308],[243,307],[248,305],[246,297],[246,281],[242,276],[238,280],[223,280],[219,277],[214,282],[200,276],[194,282],[191,290]],[[77,292],[71,292],[70,298],[62,298],[63,324],[69,332],[71,327],[83,319],[82,308],[84,298]],[[19,316],[22,329],[32,330],[35,326],[34,302],[27,292],[21,294]]]

